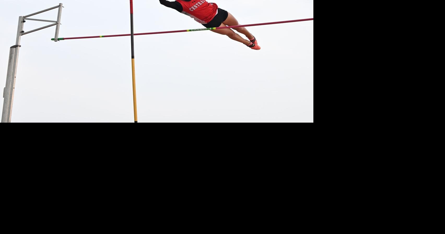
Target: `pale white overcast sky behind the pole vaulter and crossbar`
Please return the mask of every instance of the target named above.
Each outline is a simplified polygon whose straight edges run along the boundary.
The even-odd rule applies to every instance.
[[[313,0],[213,1],[241,24],[314,17]],[[129,33],[129,0],[0,0],[0,88],[18,16],[59,3],[60,37]],[[134,27],[203,28],[158,0],[134,0]],[[261,50],[210,31],[136,36],[139,122],[313,122],[313,21],[247,29]],[[53,42],[54,30],[22,36],[12,122],[134,122],[130,37]]]

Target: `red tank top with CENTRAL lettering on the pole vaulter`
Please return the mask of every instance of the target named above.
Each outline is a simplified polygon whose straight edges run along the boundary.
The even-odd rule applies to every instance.
[[[194,18],[200,24],[208,24],[213,20],[216,13],[218,13],[218,5],[216,3],[209,3],[206,0],[191,0],[186,2],[183,0],[176,0],[182,5],[182,13]]]

